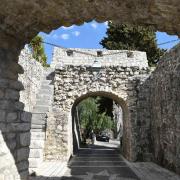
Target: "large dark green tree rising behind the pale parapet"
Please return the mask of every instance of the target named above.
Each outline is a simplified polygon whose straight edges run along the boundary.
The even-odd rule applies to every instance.
[[[100,44],[109,50],[138,50],[147,53],[148,63],[154,66],[165,53],[157,47],[155,31],[151,27],[108,23],[107,37]]]

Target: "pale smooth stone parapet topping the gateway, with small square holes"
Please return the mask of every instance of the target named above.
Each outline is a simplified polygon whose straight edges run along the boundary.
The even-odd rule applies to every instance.
[[[68,55],[73,51],[72,55]],[[97,52],[102,52],[102,57],[97,56]],[[90,55],[89,55],[90,54]],[[94,55],[94,56],[92,56]],[[94,61],[97,61],[96,63]],[[51,67],[56,65],[74,65],[74,66],[138,66],[140,68],[148,67],[145,52],[126,51],[126,50],[104,50],[104,49],[60,49],[54,48],[53,61]]]

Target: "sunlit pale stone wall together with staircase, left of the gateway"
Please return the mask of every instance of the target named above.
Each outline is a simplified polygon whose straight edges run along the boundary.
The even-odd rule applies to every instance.
[[[20,100],[24,103],[25,109],[32,113],[29,153],[29,170],[32,172],[44,159],[47,118],[53,100],[52,70],[42,67],[33,59],[27,47],[21,51],[19,63],[24,69],[24,74],[19,76],[19,81],[25,88],[20,93]]]

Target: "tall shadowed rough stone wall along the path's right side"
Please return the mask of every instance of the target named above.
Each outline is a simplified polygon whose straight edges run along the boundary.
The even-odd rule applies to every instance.
[[[180,173],[180,45],[161,59],[149,81],[152,153]]]

